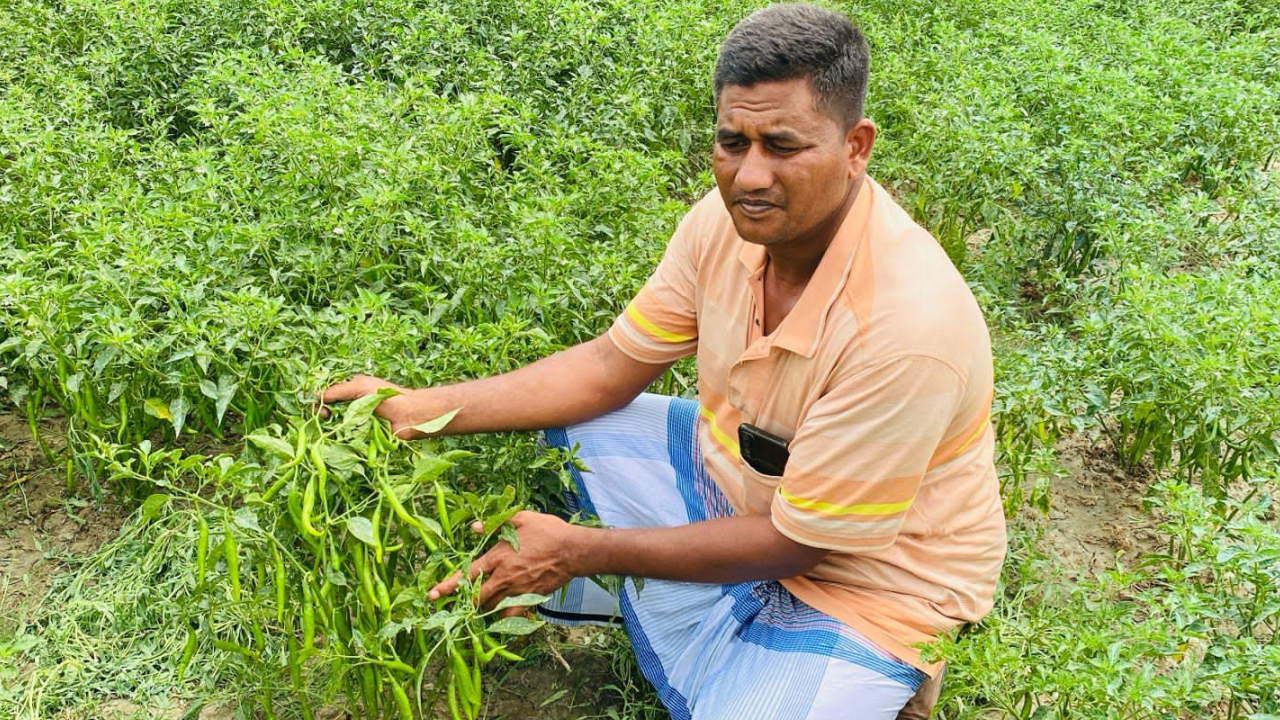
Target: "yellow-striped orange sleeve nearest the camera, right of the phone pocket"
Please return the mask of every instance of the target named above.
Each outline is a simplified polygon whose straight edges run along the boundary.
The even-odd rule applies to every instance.
[[[841,552],[892,544],[963,395],[964,380],[950,365],[918,355],[838,382],[791,441],[773,497],[774,527],[799,543]]]

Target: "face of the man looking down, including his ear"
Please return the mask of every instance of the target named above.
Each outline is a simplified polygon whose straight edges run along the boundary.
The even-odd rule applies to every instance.
[[[724,86],[718,105],[716,184],[742,240],[786,243],[841,209],[865,154],[808,78]]]

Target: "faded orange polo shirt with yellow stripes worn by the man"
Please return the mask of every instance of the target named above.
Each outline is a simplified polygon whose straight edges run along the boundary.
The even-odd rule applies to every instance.
[[[782,584],[933,674],[911,644],[986,615],[1005,556],[982,311],[870,177],[768,336],[765,259],[712,191],[609,337],[641,363],[698,354],[710,477],[737,514],[832,551]],[[783,475],[742,462],[740,423],[790,442]]]

